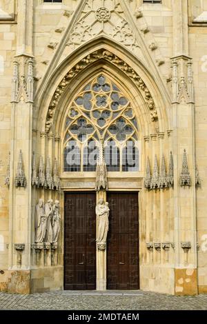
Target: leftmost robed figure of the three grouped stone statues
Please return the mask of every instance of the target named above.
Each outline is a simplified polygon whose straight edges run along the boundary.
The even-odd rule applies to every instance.
[[[46,214],[43,199],[35,206],[34,227],[35,227],[35,243],[43,242],[46,236]]]

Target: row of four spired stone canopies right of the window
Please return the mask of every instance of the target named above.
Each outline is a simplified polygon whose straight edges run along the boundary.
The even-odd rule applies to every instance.
[[[155,155],[155,164],[153,168],[153,173],[150,168],[150,159],[147,158],[146,163],[146,176],[144,179],[144,187],[148,190],[156,190],[156,189],[165,189],[172,187],[174,184],[174,165],[173,165],[173,157],[172,152],[170,152],[170,161],[168,173],[166,170],[166,161],[164,154],[161,158],[160,169],[158,166],[157,155]]]

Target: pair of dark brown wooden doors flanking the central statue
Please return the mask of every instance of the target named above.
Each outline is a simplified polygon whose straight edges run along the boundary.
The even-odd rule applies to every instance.
[[[139,289],[137,192],[108,192],[107,289]],[[96,289],[96,194],[65,195],[65,290]]]

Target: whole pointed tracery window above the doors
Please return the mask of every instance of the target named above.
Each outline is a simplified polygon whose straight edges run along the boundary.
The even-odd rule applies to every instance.
[[[135,111],[126,94],[119,85],[100,74],[82,88],[68,109],[63,143],[64,171],[95,171],[100,141],[104,143],[109,171],[137,171],[137,163],[132,157],[136,157],[138,138]],[[130,141],[132,145],[127,148]],[[66,153],[71,155],[72,148],[78,152],[79,159],[76,160],[80,165],[70,168],[68,161],[75,161],[75,158],[67,160]],[[123,164],[127,159],[126,153],[130,161],[134,161],[130,162],[132,165],[128,162],[127,166]]]

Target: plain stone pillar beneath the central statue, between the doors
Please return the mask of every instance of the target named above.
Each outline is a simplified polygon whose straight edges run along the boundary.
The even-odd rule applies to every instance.
[[[106,246],[99,248],[97,245],[97,290],[106,290]]]

